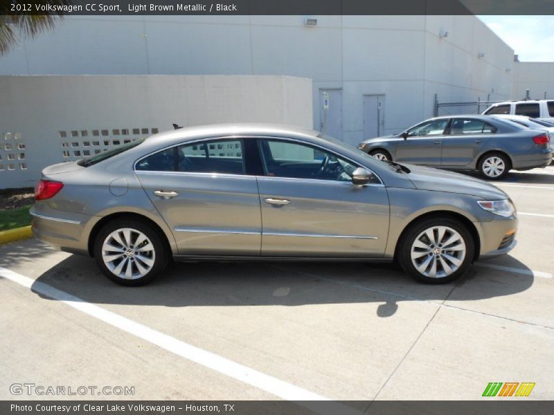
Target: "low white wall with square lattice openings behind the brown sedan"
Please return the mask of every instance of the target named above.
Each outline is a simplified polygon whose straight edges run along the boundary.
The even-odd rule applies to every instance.
[[[173,122],[312,126],[312,81],[295,77],[0,76],[0,91],[0,188]]]

